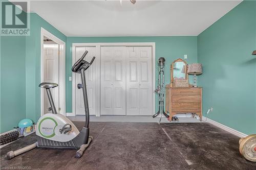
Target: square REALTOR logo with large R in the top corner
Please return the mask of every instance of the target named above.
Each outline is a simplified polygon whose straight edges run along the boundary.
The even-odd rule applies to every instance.
[[[2,36],[27,36],[30,33],[30,18],[27,2],[1,3]]]

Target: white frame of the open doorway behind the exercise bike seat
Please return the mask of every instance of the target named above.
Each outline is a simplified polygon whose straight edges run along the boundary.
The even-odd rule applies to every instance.
[[[65,47],[66,43],[41,27],[41,82],[44,81],[44,36],[59,44],[59,107],[60,114],[66,116],[66,71],[65,71]],[[58,108],[56,108],[58,110]],[[44,114],[44,89],[41,88],[41,115]]]

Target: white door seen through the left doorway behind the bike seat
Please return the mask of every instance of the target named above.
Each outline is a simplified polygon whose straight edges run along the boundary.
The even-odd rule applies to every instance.
[[[58,44],[44,44],[44,80],[43,82],[59,84],[59,46]],[[59,87],[51,89],[54,105],[58,112],[59,108]],[[46,90],[44,89],[43,113],[49,113],[51,107]]]

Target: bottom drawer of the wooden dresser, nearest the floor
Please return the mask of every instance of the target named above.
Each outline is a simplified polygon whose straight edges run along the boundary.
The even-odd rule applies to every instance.
[[[172,103],[172,112],[200,113],[201,103]]]

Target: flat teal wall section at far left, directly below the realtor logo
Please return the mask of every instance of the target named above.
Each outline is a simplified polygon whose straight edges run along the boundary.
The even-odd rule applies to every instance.
[[[0,133],[2,133],[16,127],[20,119],[26,118],[26,37],[1,36],[0,39]]]

